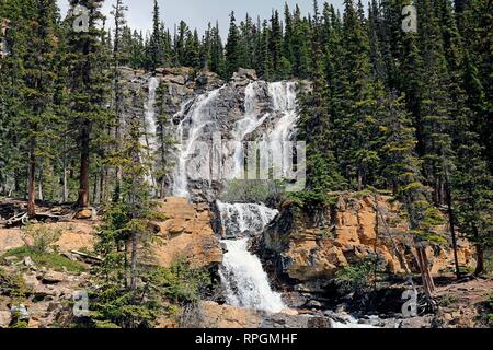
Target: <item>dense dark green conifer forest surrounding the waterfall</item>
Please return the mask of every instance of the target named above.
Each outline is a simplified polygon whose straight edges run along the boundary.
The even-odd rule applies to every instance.
[[[45,200],[112,202],[116,231],[122,211],[149,218],[139,128],[122,135],[118,67],[186,66],[223,80],[251,68],[266,81],[311,82],[299,96],[308,186],[295,197],[387,191],[424,241],[444,210],[483,272],[493,244],[491,0],[415,0],[416,32],[402,30],[408,0],[345,0],[343,11],[316,0],[309,15],[287,4],[270,19],[231,13],[223,38],[214,23],[205,33],[183,21],[170,30],[157,1],[149,33],[127,25],[124,0],[110,18],[103,0],[69,2],[89,10],[87,32],[73,30],[77,12],[60,16],[56,0],[0,3],[0,196],[26,198],[30,217]]]

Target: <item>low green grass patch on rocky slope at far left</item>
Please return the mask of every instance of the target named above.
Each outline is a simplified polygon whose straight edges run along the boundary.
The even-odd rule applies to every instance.
[[[3,257],[16,257],[19,261],[30,257],[37,267],[46,267],[59,272],[67,270],[68,272],[80,273],[87,270],[82,264],[72,261],[65,256],[55,253],[38,253],[27,246],[10,249]]]

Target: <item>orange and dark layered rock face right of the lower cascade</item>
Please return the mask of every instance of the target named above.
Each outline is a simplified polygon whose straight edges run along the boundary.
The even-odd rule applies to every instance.
[[[310,211],[287,201],[264,232],[260,246],[284,275],[300,282],[330,279],[341,268],[363,261],[370,254],[381,258],[387,272],[404,273],[405,266],[419,272],[413,237],[406,233],[397,203],[383,196],[375,200],[334,194],[334,205]],[[437,228],[444,240],[445,229]],[[426,253],[432,273],[454,267],[450,245],[431,243]],[[459,242],[458,253],[461,265],[474,264],[466,242]]]

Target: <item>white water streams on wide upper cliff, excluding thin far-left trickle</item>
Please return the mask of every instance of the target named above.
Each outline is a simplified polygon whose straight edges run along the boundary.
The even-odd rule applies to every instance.
[[[296,131],[298,120],[296,86],[294,82],[268,83],[267,90],[272,100],[272,113],[261,114],[259,112],[261,98],[257,95],[257,90],[262,89],[261,83],[251,82],[246,85],[244,115],[231,128],[231,140],[229,141],[232,141],[233,147],[231,150],[226,148],[219,153],[221,158],[221,174],[219,174],[221,179],[244,178],[243,142],[250,133],[265,125],[270,117],[278,116],[277,119],[271,118],[261,140],[272,144],[272,154],[275,154],[277,159],[288,156],[284,154],[282,141],[291,140]],[[209,166],[204,166],[210,161],[210,154],[208,154],[204,143],[199,143],[199,141],[204,141],[202,137],[205,133],[210,136],[211,132],[218,131],[217,129],[220,128],[217,125],[215,103],[221,89],[196,97],[186,115],[184,106],[188,105],[190,102],[182,106],[183,110],[179,115],[182,117],[182,121],[176,130],[179,153],[173,174],[173,196],[190,198],[188,184],[191,179],[211,180]],[[194,162],[191,162],[192,159]]]

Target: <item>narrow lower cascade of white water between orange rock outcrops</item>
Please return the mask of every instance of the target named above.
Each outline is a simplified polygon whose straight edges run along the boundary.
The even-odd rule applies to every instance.
[[[250,240],[275,218],[277,210],[262,205],[218,202],[227,248],[219,275],[232,306],[278,313],[286,308],[280,293],[272,290],[260,258],[249,252]]]

